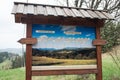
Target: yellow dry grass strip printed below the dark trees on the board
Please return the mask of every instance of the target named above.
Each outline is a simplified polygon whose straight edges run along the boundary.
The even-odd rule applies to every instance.
[[[32,62],[33,62],[33,64],[61,63],[59,65],[89,65],[89,64],[96,64],[95,59],[91,59],[91,60],[55,59],[55,58],[38,57],[38,56],[33,56],[33,61]]]

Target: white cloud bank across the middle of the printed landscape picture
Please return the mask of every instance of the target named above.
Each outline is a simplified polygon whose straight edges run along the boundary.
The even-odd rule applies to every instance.
[[[33,45],[33,48],[93,48],[92,40],[89,38],[64,38],[64,37],[48,37],[42,35],[37,38],[38,43]]]

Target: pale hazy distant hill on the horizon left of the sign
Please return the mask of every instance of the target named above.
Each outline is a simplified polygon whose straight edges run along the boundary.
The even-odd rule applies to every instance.
[[[21,48],[6,48],[6,49],[0,49],[0,52],[9,52],[9,53],[14,53],[14,54],[19,54],[22,55],[22,49]],[[24,49],[25,52],[25,49]]]

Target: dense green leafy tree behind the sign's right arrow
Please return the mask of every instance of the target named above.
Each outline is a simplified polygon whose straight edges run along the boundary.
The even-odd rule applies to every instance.
[[[117,24],[109,21],[101,29],[102,39],[107,41],[107,44],[103,46],[103,52],[111,50],[112,47],[120,44],[120,22]]]

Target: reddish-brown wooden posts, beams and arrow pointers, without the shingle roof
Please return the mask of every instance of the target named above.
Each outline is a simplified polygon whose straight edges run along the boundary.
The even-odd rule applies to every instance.
[[[30,18],[30,17],[29,17]],[[74,25],[73,23],[56,21],[45,21],[47,18],[32,18],[29,19],[27,17],[22,19],[23,23],[27,23],[27,31],[26,31],[26,39],[21,39],[19,42],[22,44],[26,44],[26,80],[32,80],[32,76],[45,76],[45,75],[64,75],[64,74],[96,74],[96,80],[102,80],[102,61],[101,61],[101,45],[105,44],[105,41],[100,39],[100,27],[103,26],[104,20],[87,20],[81,19],[79,24],[76,25],[85,25],[85,26],[94,26],[96,27],[96,40],[93,41],[93,45],[96,45],[97,52],[97,69],[68,69],[68,70],[32,70],[32,44],[36,43],[35,39],[32,38],[32,24],[64,24],[64,25]],[[53,19],[53,18],[50,18]],[[69,20],[69,19],[68,19]],[[69,20],[71,21],[71,19]],[[76,22],[77,22],[76,21]],[[89,21],[89,22],[87,22]],[[87,23],[85,23],[87,22]]]

